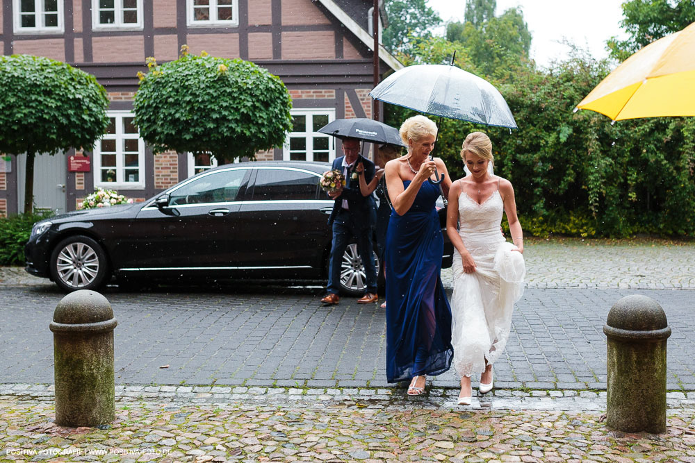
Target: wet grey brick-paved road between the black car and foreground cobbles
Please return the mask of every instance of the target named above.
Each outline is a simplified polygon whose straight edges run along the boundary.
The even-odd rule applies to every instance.
[[[514,313],[505,356],[495,365],[505,389],[605,389],[610,307],[634,291],[527,289]],[[640,290],[667,313],[670,390],[695,391],[692,292]],[[219,293],[107,290],[115,329],[116,381],[126,385],[392,387],[384,378],[385,316],[345,298],[323,306],[318,293],[249,285]],[[53,382],[48,329],[63,294],[56,287],[0,291],[0,382]],[[163,368],[164,367],[164,368]],[[449,371],[436,387],[457,387]]]

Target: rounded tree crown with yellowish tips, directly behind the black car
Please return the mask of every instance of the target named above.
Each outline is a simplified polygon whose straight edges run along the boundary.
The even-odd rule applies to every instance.
[[[284,83],[240,59],[193,56],[148,63],[134,100],[140,136],[154,153],[212,153],[218,160],[254,159],[281,146],[291,129]]]

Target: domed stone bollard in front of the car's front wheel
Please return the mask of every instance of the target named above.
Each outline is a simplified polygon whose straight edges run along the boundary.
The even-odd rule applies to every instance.
[[[65,296],[51,323],[56,373],[56,424],[97,426],[115,419],[111,304],[98,292]]]

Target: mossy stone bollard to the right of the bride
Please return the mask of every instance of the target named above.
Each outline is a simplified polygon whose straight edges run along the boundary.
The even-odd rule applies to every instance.
[[[666,431],[666,344],[671,328],[647,296],[621,298],[608,312],[606,426],[622,432]]]

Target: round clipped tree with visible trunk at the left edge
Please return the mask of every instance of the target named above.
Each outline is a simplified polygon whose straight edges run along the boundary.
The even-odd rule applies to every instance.
[[[24,212],[33,210],[36,153],[88,148],[106,132],[108,97],[97,79],[39,56],[0,56],[0,152],[26,153]]]

